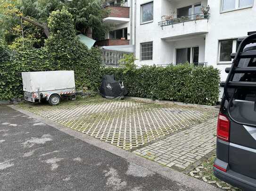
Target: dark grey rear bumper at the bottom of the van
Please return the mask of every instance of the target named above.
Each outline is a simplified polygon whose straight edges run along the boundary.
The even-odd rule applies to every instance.
[[[256,191],[256,179],[241,175],[232,170],[223,172],[214,167],[214,175],[226,183],[244,189],[245,191]]]

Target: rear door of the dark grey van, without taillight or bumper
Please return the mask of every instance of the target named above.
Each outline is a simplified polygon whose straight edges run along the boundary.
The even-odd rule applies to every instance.
[[[241,59],[239,67],[256,67],[256,58]],[[250,84],[256,82],[256,73],[236,73],[232,81]],[[234,99],[228,109],[231,122],[229,167],[256,179],[256,87],[229,87],[228,91],[233,92]]]

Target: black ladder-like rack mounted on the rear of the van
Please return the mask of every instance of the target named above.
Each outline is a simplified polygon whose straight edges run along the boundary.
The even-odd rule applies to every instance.
[[[250,34],[248,33],[248,37],[246,38],[239,38],[238,43],[240,43],[237,53],[232,53],[231,58],[233,59],[232,61],[232,66],[231,68],[226,68],[225,71],[228,74],[228,77],[225,81],[225,83],[222,83],[221,86],[224,87],[224,98],[223,98],[223,103],[225,100],[227,101],[232,101],[229,93],[228,93],[228,87],[231,88],[238,88],[238,87],[254,87],[256,88],[256,82],[233,82],[232,79],[235,74],[237,73],[252,73],[256,72],[256,67],[246,67],[246,68],[241,68],[238,67],[239,61],[244,58],[256,58],[256,51],[252,52],[243,52],[245,46],[247,46],[250,43],[256,43],[256,32]]]

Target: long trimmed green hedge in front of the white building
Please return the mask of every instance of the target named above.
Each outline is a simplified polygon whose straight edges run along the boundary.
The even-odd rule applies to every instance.
[[[192,104],[215,105],[219,97],[219,71],[213,67],[194,67],[189,64],[143,66],[129,70],[104,68],[103,74],[114,74],[124,80],[129,96]]]

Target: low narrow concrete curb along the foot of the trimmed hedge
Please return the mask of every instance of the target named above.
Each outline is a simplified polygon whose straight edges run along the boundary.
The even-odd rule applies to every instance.
[[[205,106],[205,105],[182,103],[182,102],[175,102],[175,101],[163,101],[163,100],[158,100],[158,99],[153,100],[153,99],[149,99],[149,98],[138,98],[138,97],[129,97],[129,96],[127,96],[127,97],[125,97],[125,99],[145,101],[145,102],[150,102],[150,103],[159,103],[159,104],[199,107],[199,108],[203,108],[203,109],[215,109],[215,110],[219,110],[220,109],[218,106]]]

